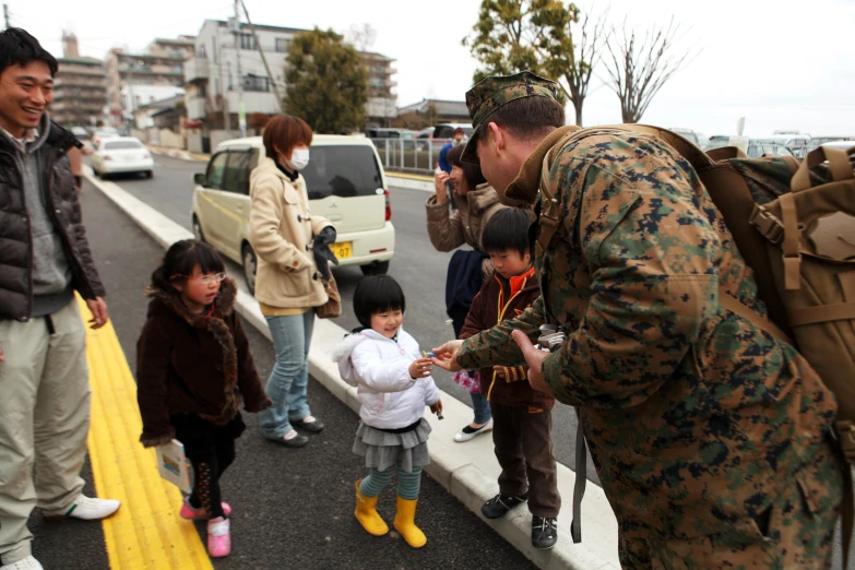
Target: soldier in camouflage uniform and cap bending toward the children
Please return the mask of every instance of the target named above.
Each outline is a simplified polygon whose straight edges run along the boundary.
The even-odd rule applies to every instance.
[[[532,385],[581,407],[624,567],[828,568],[842,492],[833,394],[792,346],[720,307],[729,295],[765,312],[690,164],[651,135],[560,127],[555,94],[531,72],[466,94],[463,159],[504,203],[558,224],[536,251],[532,308],[436,363],[527,361]],[[538,195],[547,152],[551,204]],[[543,323],[568,331],[558,352],[532,346]]]

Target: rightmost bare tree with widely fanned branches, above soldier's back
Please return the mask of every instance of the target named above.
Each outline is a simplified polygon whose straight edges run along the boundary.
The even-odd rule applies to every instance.
[[[620,34],[611,31],[607,41],[607,84],[620,99],[624,122],[638,122],[663,85],[696,55],[688,49],[681,56],[676,43],[682,36],[672,16],[666,27],[651,26],[643,37],[636,31],[627,35],[626,20]]]

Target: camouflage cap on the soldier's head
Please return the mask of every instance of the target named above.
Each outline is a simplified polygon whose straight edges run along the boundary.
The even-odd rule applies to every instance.
[[[513,75],[490,75],[466,93],[466,107],[470,109],[473,130],[461,161],[479,164],[476,147],[478,129],[499,108],[523,97],[557,99],[558,84],[531,71],[523,71]]]

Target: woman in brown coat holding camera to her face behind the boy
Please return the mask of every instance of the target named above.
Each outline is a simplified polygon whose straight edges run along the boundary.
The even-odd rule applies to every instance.
[[[428,236],[437,251],[451,251],[467,245],[475,251],[486,254],[480,244],[484,226],[487,225],[487,221],[492,214],[506,206],[499,203],[496,190],[487,183],[480,168],[477,165],[461,162],[460,157],[464,147],[462,144],[453,146],[446,155],[446,159],[451,165],[451,175],[438,173],[435,177],[437,193],[428,198],[425,204]],[[449,195],[446,190],[449,180],[454,186],[454,202],[458,206],[453,212],[449,209]],[[482,262],[482,273],[484,278],[492,278],[492,263],[489,258]],[[465,278],[465,276],[449,275],[448,278]],[[460,336],[463,323],[466,321],[466,312],[468,312],[468,307],[449,313],[455,337]],[[466,388],[474,381],[474,377],[467,378],[462,375],[468,375],[468,372],[458,372],[454,381]],[[477,391],[468,390],[468,392],[475,418],[454,436],[454,441],[459,443],[492,429],[489,402]]]

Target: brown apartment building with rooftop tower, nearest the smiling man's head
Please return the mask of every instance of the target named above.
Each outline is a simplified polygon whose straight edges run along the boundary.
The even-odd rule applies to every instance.
[[[92,126],[103,118],[107,103],[104,61],[81,57],[74,34],[62,34],[63,57],[54,79],[50,116],[66,127]]]

